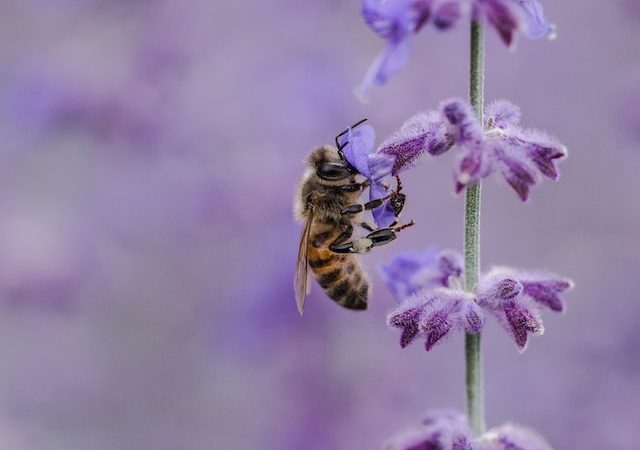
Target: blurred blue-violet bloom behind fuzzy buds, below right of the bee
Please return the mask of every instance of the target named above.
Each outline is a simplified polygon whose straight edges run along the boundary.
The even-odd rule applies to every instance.
[[[450,287],[450,277],[459,278],[463,270],[458,252],[436,252],[427,247],[423,251],[401,253],[378,267],[380,276],[398,302],[425,288]]]

